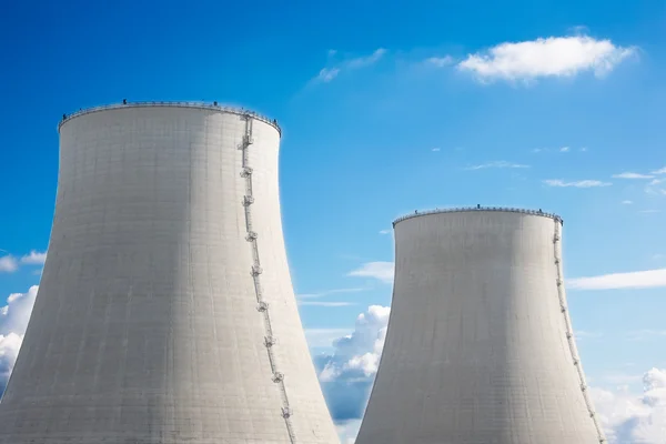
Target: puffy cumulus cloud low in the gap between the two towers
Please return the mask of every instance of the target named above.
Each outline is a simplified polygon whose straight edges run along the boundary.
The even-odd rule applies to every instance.
[[[355,436],[367,403],[386,337],[390,309],[371,305],[356,319],[352,333],[333,343],[333,353],[314,357],[322,390],[341,436]],[[347,434],[345,436],[344,433]]]

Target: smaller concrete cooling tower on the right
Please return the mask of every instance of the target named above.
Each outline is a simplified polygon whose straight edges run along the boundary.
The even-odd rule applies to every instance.
[[[394,228],[391,317],[356,443],[603,442],[567,313],[562,220],[462,209]]]

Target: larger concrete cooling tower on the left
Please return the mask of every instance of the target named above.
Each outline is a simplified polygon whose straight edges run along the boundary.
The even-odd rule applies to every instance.
[[[287,269],[276,123],[130,103],[59,131],[0,443],[337,443]]]

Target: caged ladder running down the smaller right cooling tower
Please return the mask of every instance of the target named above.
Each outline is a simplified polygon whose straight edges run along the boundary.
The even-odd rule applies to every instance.
[[[598,438],[599,443],[605,443],[606,437],[604,436],[604,432],[602,431],[599,422],[596,417],[596,413],[594,411],[594,405],[592,404],[592,400],[589,398],[589,395],[588,395],[587,384],[585,383],[585,374],[583,373],[583,366],[581,365],[581,357],[578,356],[578,353],[576,352],[576,346],[575,346],[576,340],[574,337],[574,329],[572,326],[572,320],[568,315],[568,310],[566,306],[566,300],[565,300],[565,293],[564,293],[564,280],[563,280],[563,272],[562,272],[562,258],[559,258],[559,254],[557,253],[557,246],[562,242],[562,235],[559,233],[559,224],[561,224],[561,221],[556,219],[555,220],[555,234],[553,236],[553,252],[554,252],[554,256],[555,256],[555,269],[556,269],[556,273],[557,273],[556,283],[557,283],[557,296],[559,299],[559,311],[561,311],[562,315],[564,316],[564,326],[566,330],[566,341],[568,343],[568,349],[572,354],[574,365],[576,367],[576,373],[578,374],[578,382],[581,385],[581,391],[583,392],[583,398],[585,400],[585,405],[587,407],[587,412],[589,413],[589,417],[592,418],[592,422],[594,423],[594,426],[596,428],[597,438]]]

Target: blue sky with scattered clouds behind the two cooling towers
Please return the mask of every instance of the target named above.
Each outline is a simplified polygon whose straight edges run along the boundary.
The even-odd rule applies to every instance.
[[[666,369],[665,43],[666,4],[653,0],[8,3],[0,297],[39,283],[39,258],[20,262],[48,244],[62,113],[218,100],[283,127],[287,253],[322,369],[379,353],[367,336],[385,316],[369,306],[390,305],[397,215],[542,208],[565,220],[597,404],[639,402],[642,377]],[[639,271],[654,272],[607,276]],[[332,346],[354,329],[355,351]],[[363,403],[363,374],[332,406],[341,423],[353,414],[339,405]]]

